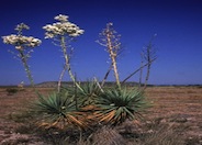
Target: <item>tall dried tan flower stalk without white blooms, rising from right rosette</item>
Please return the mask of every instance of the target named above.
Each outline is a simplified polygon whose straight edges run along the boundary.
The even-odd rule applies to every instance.
[[[113,24],[108,23],[106,27],[100,33],[100,37],[101,38],[100,41],[98,41],[98,43],[106,47],[106,52],[109,53],[112,62],[116,85],[121,89],[120,77],[117,71],[117,63],[116,63],[117,56],[121,51],[120,35],[116,34],[116,31],[113,29]]]

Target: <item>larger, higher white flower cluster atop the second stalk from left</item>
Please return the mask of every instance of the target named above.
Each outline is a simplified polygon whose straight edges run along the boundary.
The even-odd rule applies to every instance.
[[[55,16],[55,20],[59,21],[53,24],[47,24],[43,26],[46,31],[45,38],[53,38],[57,36],[79,36],[83,34],[83,30],[80,30],[79,26],[68,21],[67,15],[59,14]]]

